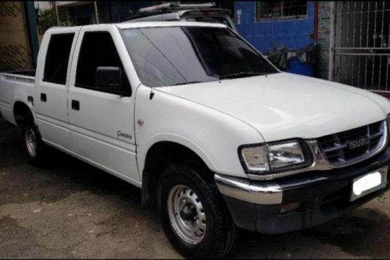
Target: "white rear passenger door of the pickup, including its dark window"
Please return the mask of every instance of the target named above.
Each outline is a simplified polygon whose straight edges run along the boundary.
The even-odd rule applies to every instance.
[[[45,34],[38,56],[34,109],[42,139],[72,150],[68,131],[68,75],[78,28],[51,29]]]

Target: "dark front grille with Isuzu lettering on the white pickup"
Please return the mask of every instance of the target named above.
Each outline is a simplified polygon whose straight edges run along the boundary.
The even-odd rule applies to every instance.
[[[378,152],[386,142],[386,122],[374,122],[371,125],[318,138],[322,155],[333,166],[342,166],[361,161]]]

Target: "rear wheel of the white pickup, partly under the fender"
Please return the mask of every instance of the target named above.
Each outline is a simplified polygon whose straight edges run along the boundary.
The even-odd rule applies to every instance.
[[[27,122],[22,126],[22,138],[29,163],[34,166],[46,166],[47,146],[42,142],[34,122]]]

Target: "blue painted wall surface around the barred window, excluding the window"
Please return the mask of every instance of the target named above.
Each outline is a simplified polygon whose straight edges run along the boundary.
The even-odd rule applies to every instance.
[[[307,2],[307,18],[285,21],[262,21],[255,23],[255,1],[235,1],[235,23],[250,44],[262,53],[272,49],[272,42],[283,44],[288,49],[299,49],[313,42],[314,2]],[[237,10],[241,10],[241,24],[237,25]]]

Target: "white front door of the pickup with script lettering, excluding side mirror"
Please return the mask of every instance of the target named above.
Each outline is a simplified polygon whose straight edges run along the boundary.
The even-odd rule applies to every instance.
[[[135,161],[135,86],[129,75],[133,66],[120,33],[113,25],[83,27],[75,51],[69,88],[69,122],[75,153],[90,163],[133,180],[140,180]],[[96,86],[96,68],[119,67],[123,96]],[[138,183],[139,184],[139,183]]]

